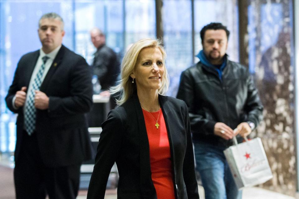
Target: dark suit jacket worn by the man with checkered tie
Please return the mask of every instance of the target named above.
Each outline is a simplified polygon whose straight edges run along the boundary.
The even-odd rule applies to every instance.
[[[18,62],[5,98],[18,113],[15,161],[22,142],[23,108],[14,109],[12,98],[22,86],[28,89],[40,51],[27,53]],[[36,137],[40,155],[49,167],[66,166],[91,159],[91,143],[84,113],[92,105],[91,73],[85,59],[63,45],[59,49],[40,91],[49,97],[49,109],[36,111]]]

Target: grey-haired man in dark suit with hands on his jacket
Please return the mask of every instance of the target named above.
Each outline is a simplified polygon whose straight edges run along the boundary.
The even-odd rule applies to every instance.
[[[42,48],[21,57],[5,99],[18,113],[16,198],[76,198],[80,166],[92,156],[84,115],[91,74],[85,59],[62,45],[63,28],[55,13],[40,18]]]

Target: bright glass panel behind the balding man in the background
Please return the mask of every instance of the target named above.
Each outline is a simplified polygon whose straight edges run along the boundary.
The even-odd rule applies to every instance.
[[[76,51],[92,63],[94,48],[90,30],[97,27],[106,35],[106,44],[116,53],[123,47],[123,0],[75,2]]]

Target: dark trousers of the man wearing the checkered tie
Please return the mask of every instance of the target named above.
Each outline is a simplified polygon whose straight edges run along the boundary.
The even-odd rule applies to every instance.
[[[45,166],[40,157],[36,132],[29,136],[24,131],[14,169],[16,198],[45,199],[48,195],[50,199],[75,199],[79,189],[80,166]]]

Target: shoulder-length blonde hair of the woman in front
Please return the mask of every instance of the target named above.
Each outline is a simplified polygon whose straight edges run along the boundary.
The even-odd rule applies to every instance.
[[[125,103],[136,90],[136,83],[132,83],[130,75],[134,71],[140,51],[144,48],[153,47],[158,48],[161,51],[164,65],[164,77],[162,80],[162,86],[159,88],[159,94],[163,95],[168,90],[169,78],[165,67],[166,52],[161,44],[162,42],[159,39],[141,39],[133,44],[126,52],[121,62],[121,80],[118,82],[117,86],[110,88],[110,92],[112,94],[117,93],[120,96],[119,99],[116,100],[116,104],[118,106]]]

